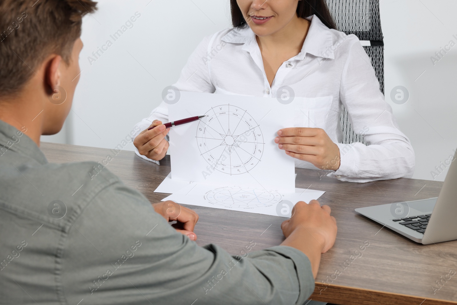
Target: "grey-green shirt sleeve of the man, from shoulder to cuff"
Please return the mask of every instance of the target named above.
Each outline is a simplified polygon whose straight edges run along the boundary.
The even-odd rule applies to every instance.
[[[85,205],[62,242],[56,272],[68,304],[301,305],[314,290],[301,251],[275,246],[242,258],[200,247],[121,182]]]

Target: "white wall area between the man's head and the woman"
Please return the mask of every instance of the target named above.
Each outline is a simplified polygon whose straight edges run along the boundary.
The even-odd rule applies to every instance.
[[[228,0],[98,0],[98,8],[83,22],[71,135],[43,141],[114,148],[159,104],[203,37],[230,26]],[[141,16],[114,41],[135,12]],[[90,63],[107,40],[112,46]]]

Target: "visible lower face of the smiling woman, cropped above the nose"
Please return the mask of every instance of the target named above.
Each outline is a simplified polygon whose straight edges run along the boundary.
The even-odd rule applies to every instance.
[[[257,36],[272,35],[297,17],[298,1],[303,0],[237,0],[244,20]]]

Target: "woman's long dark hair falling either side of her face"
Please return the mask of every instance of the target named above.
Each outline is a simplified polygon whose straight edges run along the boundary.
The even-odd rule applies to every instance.
[[[243,25],[246,21],[244,20],[243,13],[239,9],[236,0],[230,0],[230,6],[232,11],[232,24],[234,27]],[[320,21],[324,23],[328,28],[336,30],[336,24],[330,14],[329,8],[325,0],[301,0],[298,1],[297,16],[306,18],[311,15],[319,17]]]

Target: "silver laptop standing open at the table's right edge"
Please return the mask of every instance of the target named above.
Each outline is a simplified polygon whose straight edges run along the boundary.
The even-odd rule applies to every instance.
[[[457,151],[438,197],[356,209],[423,245],[457,239]]]

